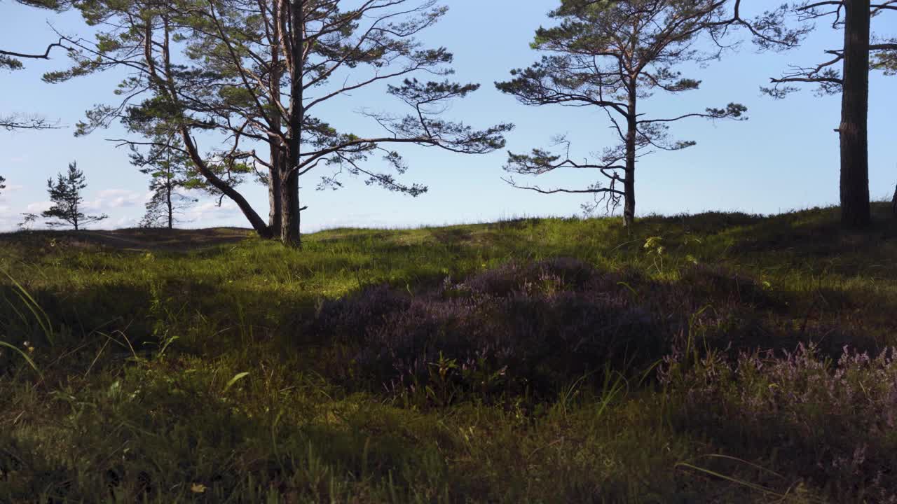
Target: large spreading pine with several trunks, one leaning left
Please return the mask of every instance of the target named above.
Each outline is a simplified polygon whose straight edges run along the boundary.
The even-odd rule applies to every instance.
[[[260,236],[279,235],[285,244],[300,246],[300,178],[327,170],[318,187],[340,187],[351,175],[418,196],[426,187],[400,179],[408,169],[402,145],[480,154],[503,147],[511,129],[475,129],[444,118],[450,102],[479,85],[449,81],[448,49],[415,39],[447,12],[435,0],[91,0],[77,6],[101,27],[97,40],[65,39],[76,49],[74,66],[46,74],[45,81],[119,67],[136,70],[122,89],[142,90],[117,91],[119,101],[91,109],[78,133],[117,119],[144,138],[176,133],[205,182],[237,204]],[[334,101],[344,108],[342,100],[355,91],[382,84],[396,100],[387,110],[361,109],[369,119],[358,126],[362,131],[330,123]],[[198,143],[215,140],[217,148]],[[386,170],[370,166],[376,158]],[[267,222],[228,179],[250,163],[251,171],[256,164],[266,171],[260,178],[268,183]]]

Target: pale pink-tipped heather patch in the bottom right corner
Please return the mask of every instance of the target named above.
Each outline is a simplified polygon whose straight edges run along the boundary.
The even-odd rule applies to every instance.
[[[845,347],[840,359],[814,345],[794,352],[677,350],[658,373],[674,423],[772,471],[799,474],[837,502],[897,503],[897,351]],[[797,482],[763,482],[793,486]]]

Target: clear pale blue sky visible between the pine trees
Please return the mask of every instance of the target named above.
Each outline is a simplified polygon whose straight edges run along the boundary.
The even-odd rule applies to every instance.
[[[586,157],[614,142],[600,109],[560,107],[530,108],[496,91],[493,82],[506,80],[511,68],[539,57],[528,44],[533,32],[547,21],[545,13],[556,0],[448,0],[445,18],[421,37],[432,46],[448,47],[456,56],[459,81],[482,83],[466,100],[457,101],[448,117],[474,126],[497,122],[517,125],[508,135],[508,149],[525,152],[548,146],[554,135],[567,134],[572,153]],[[750,3],[749,3],[750,4]],[[770,0],[755,0],[766,8]],[[54,39],[51,22],[68,34],[89,35],[77,13],[47,13],[19,4],[0,2],[0,47],[22,52],[42,52]],[[897,16],[874,21],[880,33],[897,32]],[[838,199],[838,137],[832,130],[839,122],[839,97],[817,97],[812,89],[787,100],[762,96],[759,87],[778,75],[789,63],[821,61],[823,49],[836,48],[840,33],[821,27],[802,48],[785,54],[756,54],[750,44],[706,68],[688,67],[688,76],[702,81],[701,90],[671,97],[658,93],[642,109],[651,115],[719,107],[730,101],[748,107],[745,122],[701,119],[678,123],[673,135],[697,141],[682,152],[663,152],[643,158],[637,172],[637,211],[647,213],[697,213],[707,210],[779,213],[814,205],[834,204]],[[26,69],[0,74],[0,112],[37,112],[59,118],[59,130],[0,132],[0,175],[8,188],[0,195],[0,230],[12,230],[20,213],[46,208],[46,180],[77,161],[88,178],[85,202],[89,211],[109,213],[99,227],[133,226],[144,213],[147,179],[127,160],[125,148],[106,138],[124,135],[119,128],[74,138],[74,125],[85,109],[113,99],[120,74],[100,74],[69,83],[46,84],[44,72],[66,64],[63,53],[54,60],[26,62]],[[897,182],[897,154],[893,149],[897,80],[873,74],[869,110],[870,188],[878,199],[893,194]],[[335,126],[365,134],[378,131],[370,120],[353,111],[372,108],[401,111],[400,105],[382,93],[385,85],[344,97],[330,106],[327,119]],[[890,92],[889,92],[890,91]],[[430,192],[412,198],[367,187],[361,179],[349,180],[338,191],[316,191],[318,175],[309,173],[302,182],[301,198],[309,204],[303,213],[306,232],[337,226],[407,227],[456,222],[494,221],[513,216],[572,215],[579,213],[582,197],[543,196],[508,187],[501,177],[506,152],[464,156],[434,149],[403,151],[411,165],[405,181],[428,185]],[[379,161],[375,161],[379,162]],[[557,172],[539,178],[545,186],[585,187],[588,173]],[[244,186],[259,213],[267,214],[266,189]],[[246,226],[232,204],[217,208],[204,199],[187,214],[183,227]]]

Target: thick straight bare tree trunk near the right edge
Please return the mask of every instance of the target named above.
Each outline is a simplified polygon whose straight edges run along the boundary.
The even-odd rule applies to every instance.
[[[869,202],[869,0],[847,0],[844,9],[844,71],[841,97],[841,224],[849,229],[871,221]]]

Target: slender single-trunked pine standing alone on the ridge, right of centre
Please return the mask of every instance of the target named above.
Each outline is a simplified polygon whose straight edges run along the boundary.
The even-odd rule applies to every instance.
[[[518,185],[513,178],[506,181],[543,194],[592,195],[594,201],[583,205],[587,213],[599,204],[605,204],[607,210],[623,204],[624,222],[631,226],[636,162],[658,149],[678,151],[694,145],[690,140],[670,138],[669,126],[689,117],[743,119],[746,110],[743,105],[728,103],[675,117],[650,117],[641,108],[643,100],[658,91],[678,94],[698,89],[701,81],[685,77],[677,67],[718,57],[723,49],[719,40],[727,27],[747,22],[738,17],[737,9],[730,17],[726,0],[562,0],[548,15],[557,26],[536,30],[532,43],[532,48],[545,56],[526,69],[513,70],[513,78],[496,83],[496,87],[526,105],[603,109],[619,143],[605,148],[595,161],[574,161],[570,143],[562,138],[557,143],[566,147],[564,152],[536,148],[527,154],[509,153],[505,167],[525,176],[555,169],[591,169],[605,183],[544,189]],[[760,30],[752,30],[762,36]],[[702,38],[710,42],[709,53],[697,48]]]

